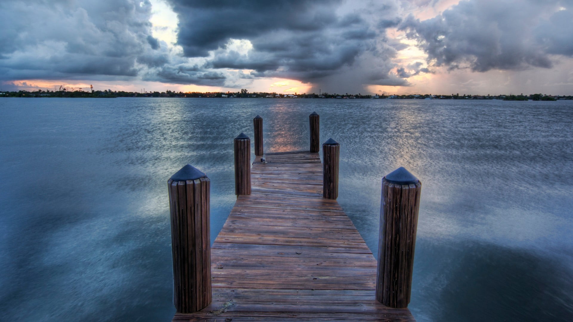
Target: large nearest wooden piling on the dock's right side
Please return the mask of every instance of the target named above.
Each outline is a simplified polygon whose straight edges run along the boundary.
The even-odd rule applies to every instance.
[[[421,189],[403,167],[382,179],[376,300],[387,307],[410,303]]]

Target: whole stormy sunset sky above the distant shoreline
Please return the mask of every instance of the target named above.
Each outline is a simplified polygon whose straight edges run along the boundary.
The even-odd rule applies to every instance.
[[[1,0],[0,91],[573,95],[573,0]]]

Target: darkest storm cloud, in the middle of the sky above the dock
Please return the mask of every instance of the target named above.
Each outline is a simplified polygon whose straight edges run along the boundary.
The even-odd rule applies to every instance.
[[[184,55],[209,57],[209,68],[252,69],[256,77],[336,88],[363,88],[371,77],[350,74],[374,69],[386,76],[374,77],[376,84],[400,83],[390,81],[388,73],[394,68],[391,59],[404,45],[380,41],[385,28],[400,21],[393,0],[368,7],[338,0],[169,2],[178,13],[178,44]],[[233,40],[249,41],[252,48],[238,50]],[[355,83],[348,84],[351,79]]]

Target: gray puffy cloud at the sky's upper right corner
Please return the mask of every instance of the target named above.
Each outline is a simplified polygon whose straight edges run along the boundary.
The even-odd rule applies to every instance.
[[[477,72],[551,68],[551,54],[573,55],[571,9],[570,0],[466,0],[425,21],[410,15],[399,28],[434,66]]]

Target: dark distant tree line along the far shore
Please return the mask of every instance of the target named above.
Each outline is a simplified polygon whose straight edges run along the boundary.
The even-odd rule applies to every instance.
[[[509,100],[509,101],[555,101],[555,100],[573,100],[573,96],[547,95],[547,94],[530,94],[530,95],[470,95],[470,94],[451,94],[451,95],[431,95],[431,94],[414,94],[414,95],[362,95],[358,94],[339,94],[339,93],[294,93],[279,94],[275,92],[252,92],[241,89],[240,92],[125,92],[125,91],[17,91],[17,92],[0,92],[0,97],[200,97],[200,98],[307,98],[307,99],[438,99],[438,100]]]

